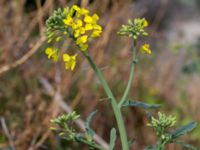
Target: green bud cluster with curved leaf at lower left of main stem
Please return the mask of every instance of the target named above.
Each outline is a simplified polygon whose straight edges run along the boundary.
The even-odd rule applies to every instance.
[[[95,132],[90,128],[90,123],[96,113],[97,111],[94,111],[87,117],[85,122],[86,131],[84,133],[79,133],[74,128],[73,122],[80,118],[80,115],[78,115],[75,111],[67,115],[61,115],[55,119],[52,119],[51,122],[56,124],[57,127],[51,127],[51,130],[55,131],[59,136],[66,140],[84,143],[91,148],[105,150],[93,141]],[[114,137],[113,134],[114,133],[112,133],[112,137]]]

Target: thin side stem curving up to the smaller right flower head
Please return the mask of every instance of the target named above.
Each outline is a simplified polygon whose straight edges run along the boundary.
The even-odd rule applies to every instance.
[[[133,56],[132,56],[132,61],[131,61],[131,70],[130,70],[130,75],[129,75],[129,79],[128,79],[128,83],[127,83],[127,86],[126,86],[126,89],[124,91],[124,94],[118,104],[118,107],[120,108],[124,101],[127,100],[127,96],[128,96],[128,93],[131,89],[131,84],[132,84],[132,81],[133,81],[133,77],[134,77],[134,70],[135,70],[135,63],[136,63],[136,40],[134,40],[134,45],[133,45]]]

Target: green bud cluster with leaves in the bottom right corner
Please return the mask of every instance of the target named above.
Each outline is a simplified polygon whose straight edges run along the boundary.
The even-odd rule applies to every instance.
[[[164,150],[165,146],[169,143],[177,143],[183,147],[195,149],[190,144],[176,140],[179,136],[192,131],[197,125],[195,122],[191,122],[173,132],[168,132],[169,128],[174,127],[176,123],[175,116],[166,116],[165,114],[158,112],[158,119],[150,116],[150,114],[148,114],[148,117],[150,118],[150,123],[147,125],[155,130],[158,141],[156,145],[149,146],[145,150]]]

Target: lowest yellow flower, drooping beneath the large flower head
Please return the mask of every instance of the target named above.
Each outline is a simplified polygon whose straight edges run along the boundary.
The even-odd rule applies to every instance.
[[[67,53],[63,54],[63,61],[65,62],[65,68],[66,70],[71,69],[72,71],[74,70],[76,66],[76,57],[77,54],[75,55],[68,55]]]

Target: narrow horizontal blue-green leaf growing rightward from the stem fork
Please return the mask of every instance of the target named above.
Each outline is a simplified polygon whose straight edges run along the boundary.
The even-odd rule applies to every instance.
[[[147,104],[147,103],[140,102],[140,101],[125,101],[122,104],[122,107],[127,107],[127,106],[141,107],[141,108],[144,108],[144,109],[160,107],[159,104]]]

